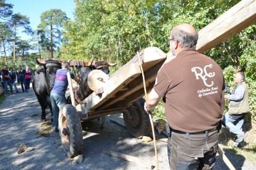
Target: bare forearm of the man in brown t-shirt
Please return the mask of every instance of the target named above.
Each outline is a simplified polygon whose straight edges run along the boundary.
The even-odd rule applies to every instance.
[[[151,108],[154,108],[159,103],[160,99],[161,97],[156,93],[155,89],[152,89],[144,104],[145,111],[150,111]]]

